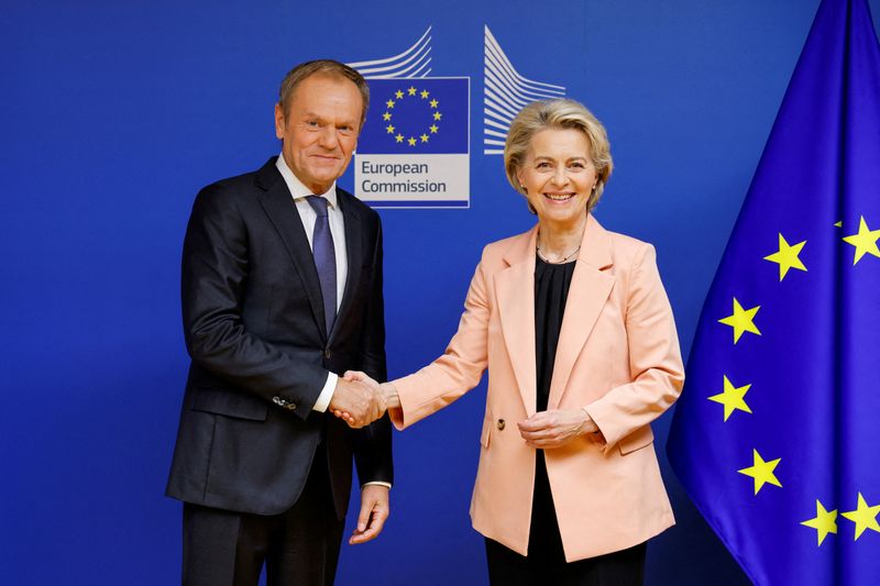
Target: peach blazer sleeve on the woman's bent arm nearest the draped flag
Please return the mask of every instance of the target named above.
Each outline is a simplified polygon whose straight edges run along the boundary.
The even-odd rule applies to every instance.
[[[679,398],[684,384],[675,320],[649,244],[634,261],[626,336],[631,382],[584,407],[604,436],[606,452],[660,417]]]

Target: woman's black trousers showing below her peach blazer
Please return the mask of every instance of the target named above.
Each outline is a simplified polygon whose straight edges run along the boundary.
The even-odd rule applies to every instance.
[[[565,562],[543,452],[535,466],[528,556],[486,539],[488,579],[493,586],[641,586],[647,545],[578,562]]]

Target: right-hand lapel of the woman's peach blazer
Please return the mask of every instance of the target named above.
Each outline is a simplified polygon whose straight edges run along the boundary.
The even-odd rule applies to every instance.
[[[548,409],[559,408],[574,363],[614,287],[614,276],[604,270],[612,266],[610,241],[592,215],[587,215],[576,262],[559,333]]]

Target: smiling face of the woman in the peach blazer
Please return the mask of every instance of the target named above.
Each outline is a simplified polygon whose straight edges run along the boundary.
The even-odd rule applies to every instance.
[[[597,180],[586,136],[574,129],[536,133],[517,178],[542,223],[564,226],[583,221]]]

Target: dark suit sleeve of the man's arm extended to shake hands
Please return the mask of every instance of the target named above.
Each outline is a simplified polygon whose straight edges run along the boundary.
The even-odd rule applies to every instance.
[[[328,372],[319,364],[296,360],[245,329],[241,303],[251,236],[234,194],[219,185],[199,192],[187,226],[182,266],[187,351],[199,366],[238,388],[266,400],[283,395],[296,405],[308,406],[294,410],[305,419]]]

